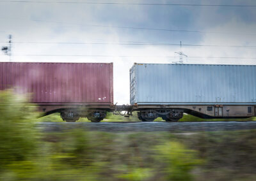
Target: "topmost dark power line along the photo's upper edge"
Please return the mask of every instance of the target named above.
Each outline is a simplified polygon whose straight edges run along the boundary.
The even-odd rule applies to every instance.
[[[146,5],[146,6],[208,6],[208,7],[256,7],[256,5],[233,4],[162,4],[162,3],[97,3],[68,1],[0,1],[0,3],[36,3],[36,4],[108,4],[108,5]]]

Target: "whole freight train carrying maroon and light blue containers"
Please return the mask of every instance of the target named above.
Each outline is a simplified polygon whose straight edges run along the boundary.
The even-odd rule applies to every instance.
[[[130,104],[113,103],[113,63],[0,62],[0,90],[31,92],[45,115],[67,122],[106,112],[138,112],[141,121],[256,116],[256,66],[144,64],[130,69]]]

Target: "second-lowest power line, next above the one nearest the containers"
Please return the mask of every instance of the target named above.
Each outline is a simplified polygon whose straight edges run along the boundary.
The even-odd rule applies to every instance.
[[[124,41],[132,43],[83,43],[83,42],[36,42],[36,41],[14,41],[12,43],[20,44],[71,44],[71,45],[152,45],[152,46],[180,46],[176,43],[147,43],[147,42],[136,42],[136,41]],[[0,42],[5,43],[5,42]],[[195,44],[182,44],[185,47],[230,47],[230,48],[256,48],[255,46],[250,45],[195,45]]]

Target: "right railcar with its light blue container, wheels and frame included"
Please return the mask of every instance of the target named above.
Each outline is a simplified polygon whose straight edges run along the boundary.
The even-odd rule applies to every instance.
[[[206,119],[253,117],[255,77],[256,66],[135,63],[131,111],[142,121],[176,122],[183,113]]]

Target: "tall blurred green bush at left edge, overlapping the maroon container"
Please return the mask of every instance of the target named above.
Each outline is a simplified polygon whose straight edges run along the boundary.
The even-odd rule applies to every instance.
[[[31,129],[38,113],[26,96],[0,93],[0,170],[12,161],[25,161],[36,152],[38,134]]]

